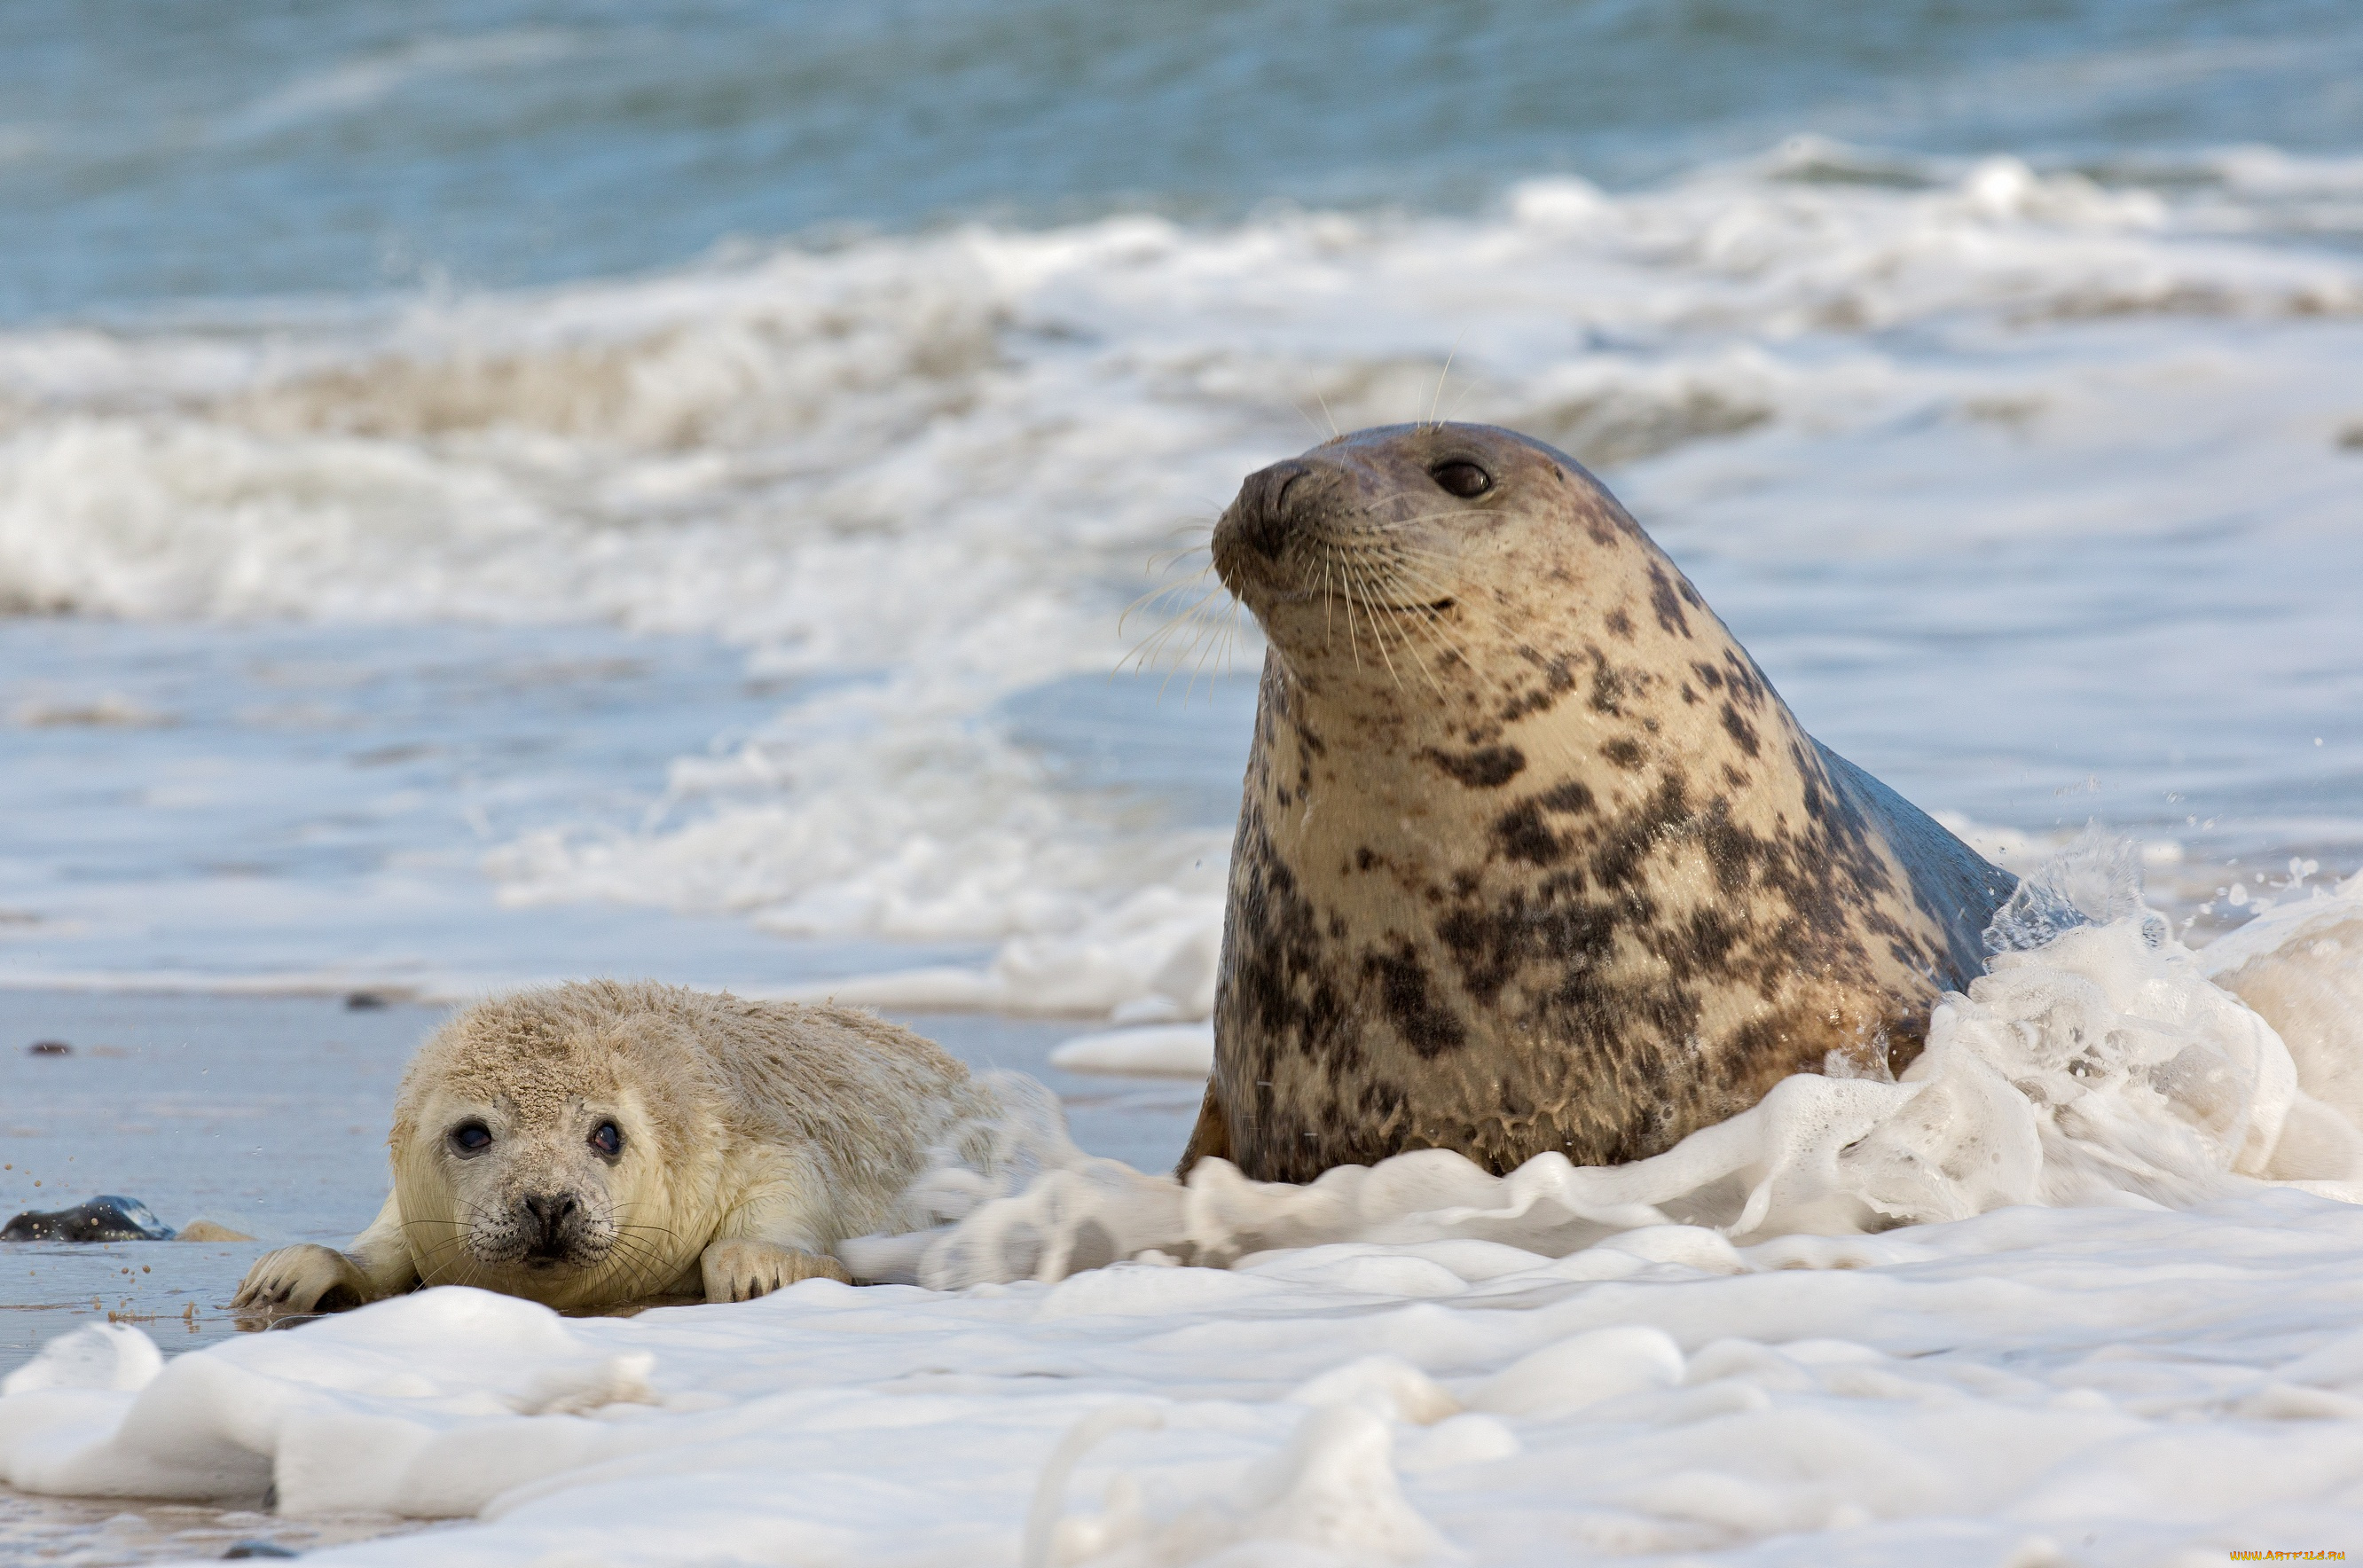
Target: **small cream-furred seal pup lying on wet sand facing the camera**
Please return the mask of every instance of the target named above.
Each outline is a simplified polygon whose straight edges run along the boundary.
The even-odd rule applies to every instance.
[[[612,980],[499,997],[402,1074],[369,1230],[272,1252],[234,1306],[477,1285],[600,1308],[851,1280],[829,1249],[933,1223],[905,1188],[933,1145],[981,1150],[995,1112],[936,1044],[853,1008]]]

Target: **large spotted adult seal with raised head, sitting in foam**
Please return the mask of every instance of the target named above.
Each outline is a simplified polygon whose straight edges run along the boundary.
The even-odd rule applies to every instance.
[[[1574,458],[1394,425],[1248,477],[1269,640],[1186,1174],[1656,1155],[1888,1074],[2016,881],[1817,744]]]

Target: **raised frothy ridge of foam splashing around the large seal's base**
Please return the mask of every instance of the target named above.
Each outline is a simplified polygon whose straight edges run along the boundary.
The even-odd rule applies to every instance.
[[[2058,909],[2079,893],[2065,876],[2030,886]],[[848,1244],[848,1259],[945,1289],[1144,1254],[1231,1266],[1342,1242],[1569,1256],[1666,1226],[1732,1244],[1871,1235],[2011,1204],[2183,1209],[2259,1181],[2363,1202],[2363,966],[2346,947],[2358,935],[2363,878],[2219,959],[2226,989],[2136,907],[1999,952],[1968,994],[1935,1006],[1902,1079],[1798,1074],[1635,1164],[1538,1155],[1491,1176],[1420,1150],[1309,1185],[1205,1159],[1184,1183],[1068,1150],[936,1235]]]

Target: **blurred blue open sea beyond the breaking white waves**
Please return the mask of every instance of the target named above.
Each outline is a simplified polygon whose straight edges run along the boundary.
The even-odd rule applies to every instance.
[[[2339,0],[12,0],[0,38],[17,321],[978,217],[1479,213],[1796,132],[2103,177],[2363,144]]]

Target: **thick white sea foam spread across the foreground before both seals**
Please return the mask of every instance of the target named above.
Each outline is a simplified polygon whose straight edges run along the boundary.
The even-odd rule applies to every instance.
[[[2242,968],[2318,999],[2358,907],[2280,916]],[[2363,1046],[2351,1011],[2309,1018]],[[1997,956],[1902,1082],[1796,1077],[1619,1169],[1415,1152],[1184,1188],[1061,1155],[1056,1108],[1011,1093],[1021,1193],[945,1164],[948,1230],[848,1247],[966,1289],[572,1322],[428,1289],[172,1360],[95,1325],[9,1377],[0,1478],[473,1518],[444,1563],[2335,1542],[2363,1525],[2363,1133],[2292,1150],[2302,1110],[2337,1117],[2302,1067],[2129,914]]]

